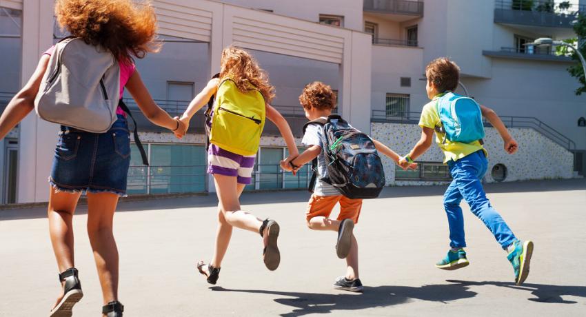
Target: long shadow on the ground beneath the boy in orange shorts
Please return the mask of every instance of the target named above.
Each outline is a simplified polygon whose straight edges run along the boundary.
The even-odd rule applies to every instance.
[[[276,292],[259,289],[225,289],[214,286],[210,289],[216,292],[243,292],[252,294],[267,294],[285,296],[274,301],[281,305],[292,307],[292,311],[281,316],[293,317],[307,314],[327,314],[341,310],[360,310],[375,307],[387,307],[408,303],[410,300],[428,300],[447,303],[452,300],[472,298],[475,292],[469,291],[466,285],[423,285],[422,287],[408,286],[376,286],[364,287],[363,294],[317,294],[301,292]]]

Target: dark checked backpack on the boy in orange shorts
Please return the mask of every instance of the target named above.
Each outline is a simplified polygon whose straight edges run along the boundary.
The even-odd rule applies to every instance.
[[[341,116],[330,115],[305,123],[323,125],[325,139],[323,153],[327,164],[327,178],[322,181],[336,188],[347,198],[376,198],[385,187],[383,163],[369,136],[350,126]],[[308,190],[316,183],[317,158],[312,161],[314,171]]]

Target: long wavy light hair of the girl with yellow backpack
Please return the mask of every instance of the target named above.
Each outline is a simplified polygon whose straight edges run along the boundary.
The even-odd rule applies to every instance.
[[[267,103],[274,98],[274,87],[269,82],[269,76],[245,50],[230,46],[222,51],[220,77],[230,77],[241,92],[258,89]]]

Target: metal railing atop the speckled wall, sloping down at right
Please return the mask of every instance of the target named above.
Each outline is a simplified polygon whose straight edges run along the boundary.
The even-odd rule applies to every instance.
[[[404,112],[399,116],[390,116],[385,110],[372,110],[371,121],[375,123],[403,123],[403,124],[417,124],[421,112]],[[576,143],[569,139],[567,136],[547,125],[543,121],[533,116],[499,116],[506,127],[528,127],[536,130],[543,136],[554,141],[558,145],[565,147],[566,150],[576,150]],[[492,127],[492,125],[483,118],[484,125],[486,127]]]

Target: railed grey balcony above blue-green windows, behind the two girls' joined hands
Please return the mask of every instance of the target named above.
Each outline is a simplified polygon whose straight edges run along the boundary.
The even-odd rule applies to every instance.
[[[1,99],[0,99],[1,100]],[[128,109],[132,112],[134,119],[137,121],[137,125],[139,126],[139,131],[141,132],[168,132],[167,129],[164,127],[159,127],[158,125],[154,125],[146,117],[142,114],[141,110],[139,110],[139,106],[134,101],[134,99],[124,99],[126,105],[128,105]],[[170,116],[181,116],[183,112],[188,108],[190,101],[176,101],[176,100],[155,100],[156,104],[159,107],[163,108]],[[1,101],[0,101],[1,104]],[[281,114],[287,119],[291,130],[294,136],[301,137],[303,136],[303,125],[307,122],[305,118],[305,112],[303,112],[303,108],[300,105],[297,106],[290,106],[290,105],[274,105],[276,110],[279,110]],[[197,133],[203,134],[205,133],[204,125],[205,125],[205,109],[207,109],[207,105],[204,105],[201,110],[196,112],[196,114],[191,119],[190,127],[188,132],[189,133]],[[263,130],[263,135],[265,136],[279,136],[281,132],[279,129],[270,121],[266,121],[265,128]]]

